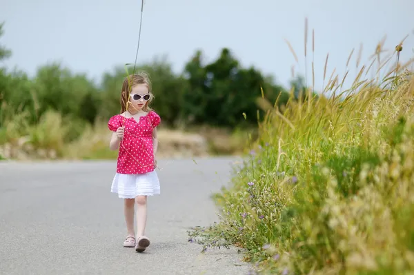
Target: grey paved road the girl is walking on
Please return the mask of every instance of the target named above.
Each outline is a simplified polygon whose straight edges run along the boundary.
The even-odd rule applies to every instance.
[[[0,274],[247,274],[235,250],[200,254],[186,230],[217,221],[210,200],[235,159],[159,161],[145,254],[122,247],[123,201],[113,161],[0,162]]]

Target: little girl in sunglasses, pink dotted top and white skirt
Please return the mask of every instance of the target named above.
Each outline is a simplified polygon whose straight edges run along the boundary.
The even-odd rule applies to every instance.
[[[150,245],[150,240],[144,236],[147,196],[160,194],[155,154],[158,147],[157,125],[161,119],[149,107],[153,97],[146,73],[126,77],[121,90],[121,114],[112,116],[108,121],[108,128],[113,132],[109,147],[119,150],[111,192],[124,198],[128,231],[124,247],[135,247],[137,252],[144,252]],[[135,204],[137,234],[134,231]]]

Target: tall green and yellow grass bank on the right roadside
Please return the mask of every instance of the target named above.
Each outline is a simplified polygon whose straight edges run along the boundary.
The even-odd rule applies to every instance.
[[[263,274],[413,274],[414,78],[401,68],[268,108],[215,196],[219,223],[190,240],[236,245]]]

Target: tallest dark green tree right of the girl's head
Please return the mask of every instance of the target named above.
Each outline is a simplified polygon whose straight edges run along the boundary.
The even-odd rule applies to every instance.
[[[189,83],[184,110],[186,116],[193,116],[195,123],[235,127],[243,123],[243,113],[249,123],[255,123],[256,99],[262,96],[261,87],[270,101],[284,92],[282,87],[266,81],[259,70],[242,68],[227,48],[207,65],[202,64],[201,52],[197,51],[184,73]]]

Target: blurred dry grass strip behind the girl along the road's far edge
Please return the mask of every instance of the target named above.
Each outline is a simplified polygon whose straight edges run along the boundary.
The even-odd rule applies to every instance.
[[[107,121],[93,125],[81,123],[59,112],[48,111],[37,123],[29,123],[28,112],[2,108],[0,159],[116,159],[109,149]],[[191,157],[209,154],[237,154],[245,139],[240,132],[228,132],[211,126],[158,130],[159,157]]]

